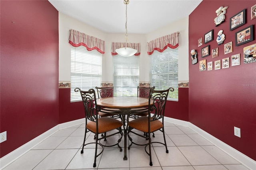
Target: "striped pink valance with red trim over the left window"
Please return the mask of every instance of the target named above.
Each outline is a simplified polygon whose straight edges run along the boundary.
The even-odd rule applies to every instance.
[[[85,33],[80,33],[74,29],[69,30],[69,43],[74,47],[84,46],[88,51],[96,49],[101,54],[105,53],[105,41],[86,35]]]

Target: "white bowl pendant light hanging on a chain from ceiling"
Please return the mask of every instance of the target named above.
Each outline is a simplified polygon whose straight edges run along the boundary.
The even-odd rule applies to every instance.
[[[116,49],[116,53],[124,57],[130,57],[134,55],[137,52],[137,50],[132,48],[131,43],[129,43],[128,41],[127,35],[127,4],[129,4],[129,0],[124,0],[124,4],[126,5],[125,43],[122,43],[121,48]]]

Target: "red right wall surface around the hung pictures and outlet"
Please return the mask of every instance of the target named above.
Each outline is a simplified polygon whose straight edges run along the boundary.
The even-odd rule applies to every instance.
[[[199,62],[189,62],[189,121],[220,139],[224,143],[256,160],[256,62],[243,63],[243,48],[256,43],[256,19],[250,19],[251,6],[255,1],[203,0],[189,16],[189,50],[196,49],[198,59],[206,63],[231,57],[240,53],[241,64],[220,70],[199,71]],[[226,20],[215,27],[215,11],[228,6]],[[209,8],[210,7],[210,8]],[[229,20],[246,8],[246,24],[230,31]],[[235,46],[235,33],[254,24],[254,41]],[[198,39],[214,30],[214,40],[198,47]],[[233,42],[233,52],[224,55],[224,44],[217,45],[219,30],[224,30],[224,44]],[[218,47],[219,57],[201,58],[201,48],[210,45]],[[190,51],[188,51],[190,58]],[[190,59],[191,60],[191,59]],[[230,58],[231,60],[231,58]],[[234,126],[241,129],[241,138],[234,136]]]

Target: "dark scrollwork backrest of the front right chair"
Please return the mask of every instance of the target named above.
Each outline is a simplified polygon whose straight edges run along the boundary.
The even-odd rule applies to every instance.
[[[150,88],[150,97],[153,101],[153,105],[150,107],[150,99],[148,104],[150,107],[149,115],[153,113],[153,115],[151,115],[151,117],[153,117],[152,121],[164,117],[164,109],[169,91],[173,92],[174,88],[170,87],[167,90],[154,90],[154,88]]]

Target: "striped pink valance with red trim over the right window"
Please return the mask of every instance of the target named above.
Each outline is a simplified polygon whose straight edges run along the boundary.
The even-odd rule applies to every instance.
[[[167,47],[170,47],[171,49],[177,48],[179,46],[178,37],[179,32],[176,32],[150,41],[149,43],[147,43],[148,55],[152,55],[154,53],[154,50],[162,53],[165,49],[167,49]]]

